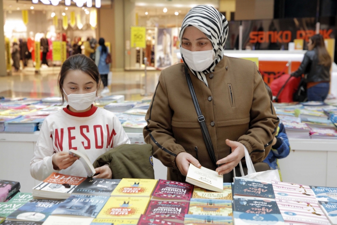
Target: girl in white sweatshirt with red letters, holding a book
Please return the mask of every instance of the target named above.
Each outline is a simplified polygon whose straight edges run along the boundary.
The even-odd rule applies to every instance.
[[[115,114],[92,105],[101,80],[90,58],[81,54],[69,57],[58,82],[62,104],[65,99],[68,105],[43,122],[31,160],[31,176],[36,180],[44,180],[52,172],[86,177],[82,163],[68,153],[79,144],[93,162],[109,149],[130,143]],[[112,178],[107,165],[95,170],[96,178]]]

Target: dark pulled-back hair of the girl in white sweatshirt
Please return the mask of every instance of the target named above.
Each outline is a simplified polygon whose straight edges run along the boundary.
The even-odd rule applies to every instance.
[[[61,105],[64,103],[64,92],[63,92],[63,81],[65,76],[70,70],[80,70],[89,76],[92,77],[96,81],[97,91],[96,96],[98,96],[98,90],[101,84],[101,78],[98,72],[98,68],[96,64],[90,59],[82,54],[77,54],[74,56],[70,56],[64,63],[62,64],[61,71],[59,74],[58,82],[59,82],[59,90],[62,97]]]

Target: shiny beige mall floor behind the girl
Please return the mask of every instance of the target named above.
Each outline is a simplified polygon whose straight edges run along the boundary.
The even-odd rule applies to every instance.
[[[41,70],[35,74],[33,68],[0,76],[0,96],[4,97],[47,97],[59,96],[57,86],[60,67]],[[153,95],[160,71],[147,71],[147,94]],[[145,72],[113,72],[112,95],[125,95],[125,100],[139,100],[145,95]]]

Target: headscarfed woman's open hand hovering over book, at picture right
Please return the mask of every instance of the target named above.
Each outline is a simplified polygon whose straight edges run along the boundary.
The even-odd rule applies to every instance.
[[[215,171],[219,175],[223,175],[232,171],[234,167],[239,164],[241,159],[245,157],[245,147],[243,144],[237,141],[230,141],[228,139],[226,140],[226,144],[232,148],[232,153],[216,162],[216,164],[225,163],[224,165],[216,168]]]

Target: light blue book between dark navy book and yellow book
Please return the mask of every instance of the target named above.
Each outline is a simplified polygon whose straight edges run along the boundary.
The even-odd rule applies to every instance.
[[[108,201],[109,196],[70,195],[52,213],[62,216],[82,216],[95,218]]]

